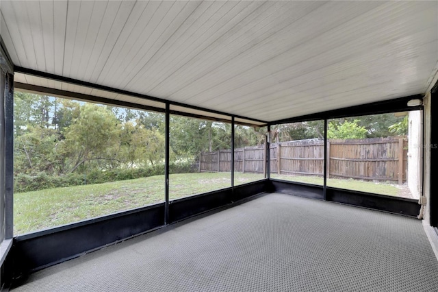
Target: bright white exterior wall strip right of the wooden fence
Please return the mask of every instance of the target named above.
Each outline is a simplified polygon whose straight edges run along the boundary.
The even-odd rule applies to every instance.
[[[422,192],[422,112],[409,112],[408,186],[414,199]]]

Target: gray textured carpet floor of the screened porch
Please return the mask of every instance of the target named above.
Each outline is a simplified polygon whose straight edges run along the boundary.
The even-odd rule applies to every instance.
[[[438,291],[421,221],[283,194],[31,274],[12,291]]]

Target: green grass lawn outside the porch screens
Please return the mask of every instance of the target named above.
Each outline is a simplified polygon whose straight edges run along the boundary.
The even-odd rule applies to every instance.
[[[170,175],[170,199],[227,188],[230,173],[182,173]],[[263,175],[235,173],[235,185],[260,180]],[[322,178],[272,175],[272,178],[322,184]],[[329,180],[329,186],[357,191],[397,195],[390,184]],[[164,175],[90,184],[49,188],[14,194],[14,234],[24,234],[114,212],[164,202]]]

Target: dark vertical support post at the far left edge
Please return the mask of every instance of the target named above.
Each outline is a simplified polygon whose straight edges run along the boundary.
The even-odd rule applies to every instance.
[[[5,239],[14,236],[14,75],[5,76]]]

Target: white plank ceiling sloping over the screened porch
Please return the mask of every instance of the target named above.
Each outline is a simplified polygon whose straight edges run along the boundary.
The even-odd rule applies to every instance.
[[[0,10],[16,66],[262,121],[422,94],[437,70],[437,1],[1,0]]]

